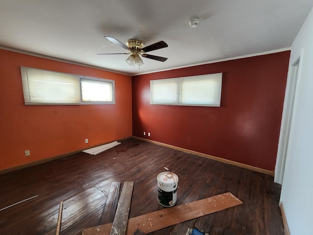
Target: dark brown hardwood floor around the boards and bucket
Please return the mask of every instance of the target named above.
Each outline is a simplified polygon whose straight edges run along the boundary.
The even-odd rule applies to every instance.
[[[134,181],[130,218],[164,209],[157,202],[158,173],[179,176],[177,205],[230,191],[242,205],[164,228],[150,235],[284,235],[273,177],[156,144],[129,139],[92,156],[77,153],[0,175],[0,235],[53,235],[64,201],[61,235],[97,226],[111,183]]]

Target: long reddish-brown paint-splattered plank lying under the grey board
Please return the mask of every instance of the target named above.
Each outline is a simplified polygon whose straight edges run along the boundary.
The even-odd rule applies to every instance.
[[[133,235],[136,229],[149,234],[156,230],[178,224],[190,219],[242,204],[230,192],[208,197],[199,201],[154,211],[129,219],[126,235]],[[84,229],[82,235],[109,235],[112,224]]]

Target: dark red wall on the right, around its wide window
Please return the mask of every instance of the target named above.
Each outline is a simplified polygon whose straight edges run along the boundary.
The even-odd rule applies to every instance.
[[[289,57],[284,51],[134,76],[133,135],[273,171]],[[221,107],[150,105],[150,80],[217,72]]]

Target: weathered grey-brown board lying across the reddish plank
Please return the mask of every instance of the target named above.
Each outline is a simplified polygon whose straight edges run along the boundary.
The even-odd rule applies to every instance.
[[[117,204],[110,235],[126,235],[129,209],[134,188],[134,181],[124,182],[120,199]]]

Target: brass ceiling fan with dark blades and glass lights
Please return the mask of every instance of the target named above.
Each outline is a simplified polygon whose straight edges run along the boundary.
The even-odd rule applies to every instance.
[[[157,49],[161,49],[164,47],[168,47],[168,45],[164,41],[159,41],[150,46],[143,47],[143,42],[137,39],[128,40],[126,43],[127,45],[126,46],[125,44],[121,43],[120,41],[118,41],[117,39],[113,37],[105,36],[105,38],[111,41],[112,43],[129,50],[129,52],[128,53],[100,53],[98,55],[117,55],[117,54],[129,55],[130,54],[130,56],[126,59],[126,62],[131,66],[143,65],[143,61],[140,58],[140,56],[148,58],[148,59],[161,61],[161,62],[164,62],[167,60],[167,58],[165,57],[145,54],[146,52],[149,52],[152,50],[157,50]]]

